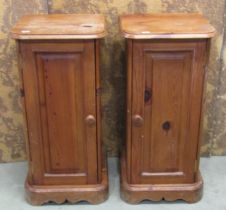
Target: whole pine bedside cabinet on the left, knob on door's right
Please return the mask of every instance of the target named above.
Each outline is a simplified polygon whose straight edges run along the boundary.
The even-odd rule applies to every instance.
[[[101,15],[32,15],[17,40],[27,122],[27,200],[100,203],[108,195],[101,142]]]

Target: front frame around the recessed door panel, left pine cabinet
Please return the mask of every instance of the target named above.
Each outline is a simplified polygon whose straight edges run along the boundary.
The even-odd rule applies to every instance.
[[[80,44],[79,44],[80,43]],[[79,49],[79,46],[80,48]],[[88,48],[86,47],[88,46]],[[21,79],[22,79],[22,89],[25,93],[25,97],[23,98],[24,107],[25,107],[25,115],[26,115],[26,123],[27,123],[27,150],[28,150],[28,159],[29,159],[29,172],[28,172],[28,181],[32,184],[96,184],[101,181],[101,168],[102,168],[102,148],[101,148],[101,132],[100,132],[100,94],[97,89],[100,88],[100,73],[99,73],[99,41],[98,40],[73,40],[73,41],[64,41],[64,40],[56,40],[56,41],[18,41],[18,51],[19,51],[19,65],[21,71]],[[91,65],[92,82],[93,86],[89,88],[93,88],[93,98],[94,101],[91,103],[94,106],[94,112],[89,111],[86,113],[93,114],[96,118],[96,123],[94,127],[88,128],[89,132],[86,132],[87,138],[87,179],[79,180],[79,178],[71,174],[59,174],[60,176],[49,176],[45,177],[45,169],[44,169],[44,154],[42,151],[43,148],[43,137],[41,132],[41,119],[35,120],[37,116],[40,116],[40,93],[38,90],[38,81],[37,81],[37,64],[33,59],[35,53],[38,52],[61,52],[61,53],[70,53],[76,52],[78,50],[84,50],[86,53],[85,65]],[[91,57],[90,57],[91,56]],[[83,62],[84,63],[84,62]],[[82,69],[84,70],[84,69]],[[30,74],[30,75],[29,75]],[[31,78],[29,79],[29,77]],[[86,76],[88,80],[85,81],[86,85],[90,85],[89,79],[91,77]],[[32,80],[33,79],[33,80]],[[32,82],[33,81],[33,82]],[[28,88],[30,87],[30,88]],[[33,92],[32,92],[33,90]],[[98,93],[98,94],[97,94]],[[88,94],[85,93],[84,94]],[[29,98],[30,95],[30,98]],[[33,101],[33,102],[32,102]],[[87,101],[88,102],[88,101]],[[87,106],[89,106],[89,103]],[[36,107],[36,111],[32,111],[32,107],[30,104],[33,103]],[[29,113],[28,113],[29,112]],[[36,112],[36,114],[35,114]],[[38,114],[39,113],[39,114]],[[30,116],[30,117],[29,117]],[[33,119],[33,122],[32,120]],[[32,126],[32,127],[31,127]],[[91,130],[92,132],[91,132]],[[95,131],[94,131],[95,130]],[[95,141],[93,140],[95,138]],[[92,155],[91,155],[92,154]],[[73,177],[73,178],[72,178]],[[46,179],[47,178],[47,179]],[[45,180],[46,179],[46,180]]]

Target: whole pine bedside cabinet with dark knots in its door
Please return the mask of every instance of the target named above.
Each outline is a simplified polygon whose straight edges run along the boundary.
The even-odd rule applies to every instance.
[[[200,128],[205,67],[215,29],[199,14],[124,15],[127,137],[121,196],[201,198]]]

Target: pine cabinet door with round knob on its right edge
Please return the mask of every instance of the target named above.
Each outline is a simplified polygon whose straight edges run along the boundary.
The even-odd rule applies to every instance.
[[[94,41],[20,43],[33,184],[97,182]]]

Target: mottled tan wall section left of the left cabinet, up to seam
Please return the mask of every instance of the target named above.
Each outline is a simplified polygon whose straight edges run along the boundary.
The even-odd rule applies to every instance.
[[[0,0],[0,161],[25,159],[25,136],[14,40],[9,30],[25,14],[46,13],[46,0]]]

